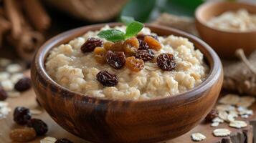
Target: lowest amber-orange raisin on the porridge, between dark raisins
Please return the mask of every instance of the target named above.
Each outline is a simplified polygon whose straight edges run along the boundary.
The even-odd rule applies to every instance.
[[[142,59],[136,59],[134,56],[128,57],[125,60],[125,66],[131,71],[141,71],[144,67],[144,61]]]

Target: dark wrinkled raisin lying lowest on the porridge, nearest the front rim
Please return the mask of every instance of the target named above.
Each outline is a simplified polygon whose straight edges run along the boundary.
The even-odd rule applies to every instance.
[[[98,82],[105,87],[114,87],[118,84],[118,77],[115,74],[110,74],[108,71],[100,71],[96,77]]]

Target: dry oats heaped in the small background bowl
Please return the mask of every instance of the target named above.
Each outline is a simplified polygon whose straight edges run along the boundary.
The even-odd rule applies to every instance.
[[[210,19],[207,24],[224,31],[250,31],[256,29],[256,14],[250,14],[246,9],[227,11]]]

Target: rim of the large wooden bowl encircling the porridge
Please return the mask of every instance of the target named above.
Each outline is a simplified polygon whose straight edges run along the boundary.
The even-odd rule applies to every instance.
[[[108,23],[108,25],[110,26],[118,26],[121,25],[120,23]],[[65,39],[68,39],[71,35],[76,34],[77,32],[79,33],[79,31],[83,31],[85,29],[92,29],[95,27],[103,27],[105,26],[105,24],[95,24],[95,25],[91,25],[91,26],[82,26],[80,28],[77,29],[72,29],[70,31],[66,31],[62,34],[58,34],[57,36],[54,36],[52,39],[49,39],[48,41],[46,41],[37,51],[37,54],[35,54],[34,56],[34,65],[35,68],[37,69],[40,77],[42,77],[47,84],[50,84],[51,86],[54,87],[54,89],[61,89],[62,91],[68,92],[70,94],[72,94],[73,96],[82,96],[82,100],[85,101],[99,101],[100,103],[104,103],[104,104],[108,104],[108,102],[125,102],[125,103],[129,103],[129,102],[139,102],[140,104],[148,104],[148,103],[152,103],[153,102],[165,102],[166,99],[169,100],[169,102],[171,101],[171,103],[176,103],[177,101],[181,101],[181,100],[190,100],[192,99],[198,99],[200,97],[202,97],[202,94],[199,94],[201,92],[204,92],[206,89],[209,89],[210,87],[212,87],[212,85],[214,83],[217,82],[217,80],[220,78],[220,74],[222,73],[222,64],[221,61],[219,59],[219,56],[217,56],[217,54],[215,53],[215,51],[208,45],[206,44],[204,41],[202,41],[199,38],[196,38],[195,36],[192,36],[190,34],[186,34],[183,31],[179,31],[177,29],[172,29],[166,26],[156,26],[153,24],[145,24],[145,26],[147,26],[148,28],[155,28],[155,29],[163,29],[166,31],[174,31],[174,33],[177,33],[181,36],[187,37],[189,39],[193,39],[194,41],[198,42],[199,44],[201,44],[202,46],[204,46],[204,49],[206,49],[207,54],[209,54],[210,59],[207,59],[208,61],[212,60],[212,64],[210,65],[210,70],[209,70],[209,74],[207,75],[206,79],[199,84],[198,86],[196,86],[193,89],[190,89],[187,92],[178,94],[174,97],[156,97],[156,98],[152,98],[152,99],[143,99],[143,100],[133,100],[133,99],[105,99],[105,98],[97,98],[97,97],[92,97],[92,96],[85,96],[82,93],[79,92],[73,92],[70,89],[67,89],[65,87],[62,87],[60,84],[57,84],[57,82],[54,82],[53,79],[51,79],[49,77],[49,75],[47,74],[47,71],[44,69],[44,61],[46,60],[46,57],[48,56],[49,50],[52,49],[55,45],[60,45],[60,44],[64,44],[63,41]],[[83,34],[85,34],[85,32],[83,32]],[[67,41],[65,41],[67,43]],[[33,71],[32,71],[33,72]],[[203,94],[204,95],[204,94]],[[65,98],[64,96],[62,96],[63,98]],[[81,98],[80,98],[81,99]],[[186,104],[186,102],[184,102],[184,104]]]

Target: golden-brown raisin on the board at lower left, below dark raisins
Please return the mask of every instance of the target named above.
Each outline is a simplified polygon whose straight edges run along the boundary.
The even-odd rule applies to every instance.
[[[29,142],[37,136],[33,128],[26,127],[24,129],[11,130],[9,137],[14,142]]]

